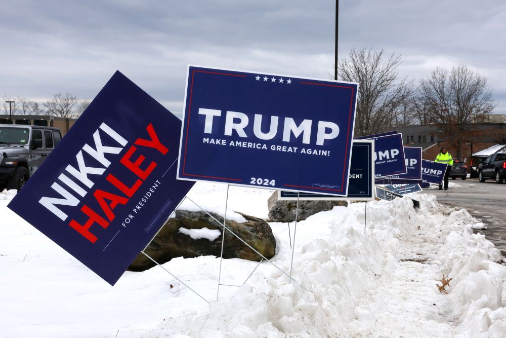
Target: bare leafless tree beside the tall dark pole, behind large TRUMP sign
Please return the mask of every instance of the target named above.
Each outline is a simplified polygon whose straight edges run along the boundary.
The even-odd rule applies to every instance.
[[[383,49],[353,48],[348,57],[339,62],[341,80],[359,84],[355,119],[357,136],[396,127],[398,114],[404,111],[413,94],[412,81],[398,80],[401,57],[392,54],[387,58],[384,53]],[[403,117],[400,120],[408,121]]]

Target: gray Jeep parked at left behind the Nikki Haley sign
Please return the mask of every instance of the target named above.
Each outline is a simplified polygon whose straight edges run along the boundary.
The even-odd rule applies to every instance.
[[[0,190],[20,190],[60,140],[58,128],[0,124]]]

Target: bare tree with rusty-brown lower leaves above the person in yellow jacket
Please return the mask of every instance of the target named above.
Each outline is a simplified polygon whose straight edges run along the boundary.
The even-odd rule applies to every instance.
[[[466,65],[447,70],[436,68],[420,83],[419,102],[428,120],[438,125],[441,138],[453,145],[460,157],[462,142],[472,141],[475,124],[495,107],[487,79]]]

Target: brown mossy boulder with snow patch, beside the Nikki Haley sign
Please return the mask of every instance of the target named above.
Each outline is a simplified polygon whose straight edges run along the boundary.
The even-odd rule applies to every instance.
[[[210,214],[223,223],[223,217],[212,212]],[[272,258],[276,252],[276,240],[269,224],[261,218],[240,214],[246,221],[238,223],[227,219],[227,228],[262,253],[266,258]],[[220,235],[214,241],[209,241],[206,238],[192,239],[189,235],[180,232],[180,228],[219,230]],[[169,219],[165,223],[144,252],[160,264],[175,257],[192,258],[206,255],[220,257],[222,229],[223,227],[216,220],[203,211],[177,210],[176,217]],[[188,233],[185,230],[183,232]],[[255,261],[262,259],[260,255],[248,248],[228,231],[225,232],[223,257]],[[153,266],[155,266],[153,261],[140,253],[130,265],[129,270],[144,271]]]

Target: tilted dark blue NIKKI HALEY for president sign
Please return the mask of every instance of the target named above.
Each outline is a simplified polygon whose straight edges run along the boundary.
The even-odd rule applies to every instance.
[[[114,285],[193,185],[180,130],[117,71],[9,208]]]

